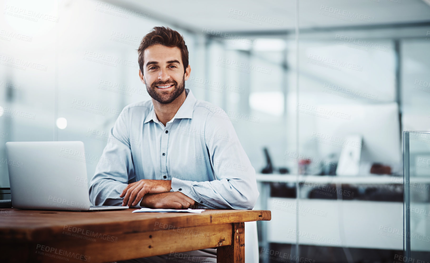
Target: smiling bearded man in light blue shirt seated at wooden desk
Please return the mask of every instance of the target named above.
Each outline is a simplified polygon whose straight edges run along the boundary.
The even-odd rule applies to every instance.
[[[126,106],[115,122],[102,155],[113,162],[98,163],[92,203],[252,209],[255,170],[227,114],[185,89],[191,67],[182,36],[154,27],[141,41],[138,62],[152,100]],[[187,253],[200,257],[197,262],[216,262],[214,249]],[[169,254],[133,262],[169,260],[178,262]]]

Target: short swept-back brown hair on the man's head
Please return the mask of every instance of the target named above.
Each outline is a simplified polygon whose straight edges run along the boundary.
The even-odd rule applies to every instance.
[[[188,49],[187,45],[185,45],[184,38],[179,34],[178,31],[175,31],[171,28],[165,27],[154,27],[151,32],[146,34],[137,50],[139,58],[139,68],[143,74],[143,52],[146,48],[150,46],[154,46],[157,44],[161,44],[163,46],[175,47],[177,46],[181,50],[182,56],[182,64],[184,65],[184,73],[185,69],[188,67]]]

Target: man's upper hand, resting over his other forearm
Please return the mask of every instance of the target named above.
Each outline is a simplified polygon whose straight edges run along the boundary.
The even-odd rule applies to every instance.
[[[169,192],[170,189],[172,189],[171,180],[141,179],[135,183],[130,183],[120,197],[124,197],[123,206],[130,206],[138,204],[146,194]]]

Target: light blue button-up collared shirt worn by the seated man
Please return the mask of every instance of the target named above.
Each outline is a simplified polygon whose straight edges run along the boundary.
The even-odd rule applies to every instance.
[[[127,184],[141,179],[172,180],[200,205],[252,209],[258,198],[255,170],[224,110],[187,97],[166,127],[152,100],[127,105],[114,127],[91,179],[94,205],[120,206]],[[136,207],[140,207],[137,205]]]

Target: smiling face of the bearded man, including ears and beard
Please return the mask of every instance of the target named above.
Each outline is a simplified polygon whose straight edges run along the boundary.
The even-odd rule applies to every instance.
[[[148,94],[162,104],[174,101],[184,91],[191,71],[188,65],[184,74],[181,50],[157,44],[145,49],[143,56],[144,72],[139,71],[139,76]]]

